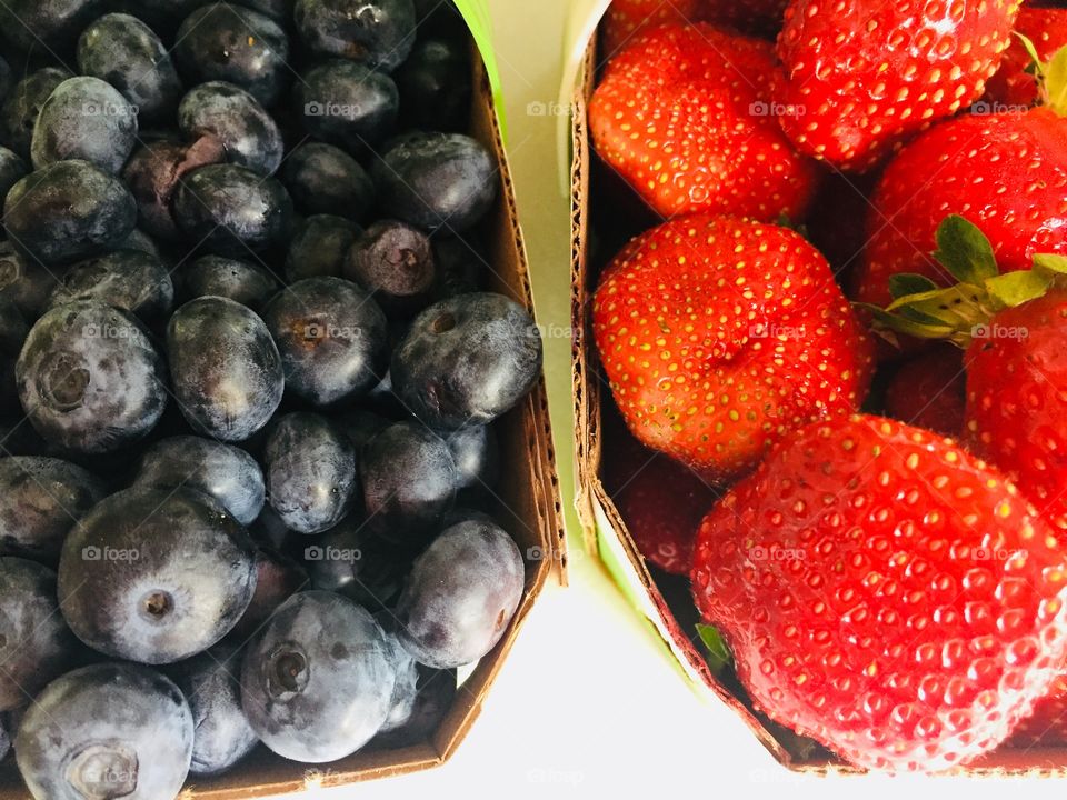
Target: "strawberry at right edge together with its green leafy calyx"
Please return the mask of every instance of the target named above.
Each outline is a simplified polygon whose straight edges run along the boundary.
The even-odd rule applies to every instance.
[[[1018,483],[1067,548],[1067,258],[1038,254],[1033,270],[1000,274],[993,244],[958,216],[937,241],[959,283],[905,276],[914,292],[898,291],[876,321],[966,348],[965,443]]]

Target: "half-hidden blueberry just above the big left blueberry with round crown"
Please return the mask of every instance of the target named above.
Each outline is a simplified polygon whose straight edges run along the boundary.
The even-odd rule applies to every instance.
[[[47,308],[74,300],[98,300],[153,326],[170,316],[174,287],[158,258],[138,250],[116,250],[67,270]]]

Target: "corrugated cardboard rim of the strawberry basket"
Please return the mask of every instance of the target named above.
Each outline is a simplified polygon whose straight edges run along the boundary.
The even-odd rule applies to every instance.
[[[612,577],[624,584],[620,589],[635,608],[656,629],[665,646],[678,662],[686,679],[706,700],[714,697],[725,702],[741,717],[760,743],[784,767],[806,773],[857,774],[862,770],[840,761],[798,761],[769,731],[752,711],[724,687],[708,669],[699,647],[684,632],[656,584],[621,514],[600,480],[600,413],[601,379],[590,329],[590,264],[589,264],[589,176],[591,151],[589,146],[587,109],[596,80],[596,37],[590,40],[582,70],[571,102],[571,327],[575,331],[574,351],[574,411],[575,446],[578,459],[576,503],[588,551],[606,563],[621,561],[610,569]],[[1067,776],[1067,750],[1064,748],[1031,748],[1029,750],[998,750],[961,767],[951,774],[977,777],[996,776]]]

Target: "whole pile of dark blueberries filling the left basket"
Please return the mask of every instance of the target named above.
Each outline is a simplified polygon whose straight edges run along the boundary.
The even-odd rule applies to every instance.
[[[422,741],[525,564],[438,0],[0,3],[0,758],[166,800]]]

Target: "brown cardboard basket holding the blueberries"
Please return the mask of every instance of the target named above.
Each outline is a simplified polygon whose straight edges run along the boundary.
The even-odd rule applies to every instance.
[[[499,201],[479,232],[487,248],[488,289],[534,310],[530,280],[511,173],[505,154],[500,121],[493,103],[489,71],[473,48],[475,91],[469,133],[496,156]],[[508,630],[460,686],[456,701],[432,737],[402,750],[367,750],[330,764],[287,761],[260,746],[233,769],[217,778],[190,777],[183,800],[245,800],[302,792],[356,781],[403,774],[442,764],[470,730],[501,664],[534,602],[554,573],[562,581],[564,527],[556,477],[548,400],[544,379],[528,398],[497,423],[501,463],[508,464],[497,489],[497,517],[516,539],[526,559],[526,589]],[[159,747],[167,747],[159,742]],[[27,800],[14,759],[0,764],[0,800]]]

